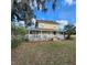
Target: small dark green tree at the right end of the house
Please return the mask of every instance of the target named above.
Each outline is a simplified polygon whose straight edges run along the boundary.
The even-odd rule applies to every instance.
[[[76,26],[72,24],[67,24],[64,26],[65,34],[67,34],[66,39],[70,39],[70,35],[76,32]]]

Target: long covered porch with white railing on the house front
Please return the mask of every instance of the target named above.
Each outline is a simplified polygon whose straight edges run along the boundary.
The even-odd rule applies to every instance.
[[[29,41],[50,41],[57,37],[58,32],[47,29],[31,29],[29,30]]]

